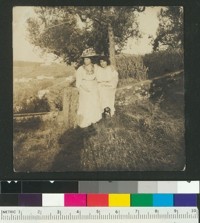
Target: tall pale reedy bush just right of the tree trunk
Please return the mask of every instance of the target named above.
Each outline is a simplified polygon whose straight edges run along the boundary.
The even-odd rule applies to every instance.
[[[143,64],[142,57],[140,56],[120,54],[116,56],[116,64],[120,79],[147,79],[147,69]]]

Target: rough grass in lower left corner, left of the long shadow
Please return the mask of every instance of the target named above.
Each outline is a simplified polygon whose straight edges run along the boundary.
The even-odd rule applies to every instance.
[[[61,134],[55,122],[42,122],[29,119],[27,122],[14,123],[14,170],[16,172],[48,171],[59,152],[57,137]],[[39,125],[38,128],[33,128]]]

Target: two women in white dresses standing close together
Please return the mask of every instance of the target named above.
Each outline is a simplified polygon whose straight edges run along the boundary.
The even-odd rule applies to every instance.
[[[115,112],[115,91],[118,73],[106,57],[100,58],[100,65],[94,64],[93,49],[83,52],[84,64],[76,72],[76,87],[79,89],[78,124],[81,128],[98,122],[104,108],[109,107],[111,116]]]

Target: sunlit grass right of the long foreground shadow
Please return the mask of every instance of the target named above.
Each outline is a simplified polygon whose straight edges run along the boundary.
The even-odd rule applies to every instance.
[[[95,131],[82,150],[84,170],[170,171],[184,166],[183,120],[149,101],[123,107],[96,124]]]

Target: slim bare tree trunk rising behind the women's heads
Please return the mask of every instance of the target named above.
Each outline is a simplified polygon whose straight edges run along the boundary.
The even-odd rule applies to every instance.
[[[114,33],[111,24],[108,24],[108,38],[109,38],[109,54],[110,54],[110,62],[111,65],[116,68],[116,61],[115,61],[115,40],[114,40]]]

